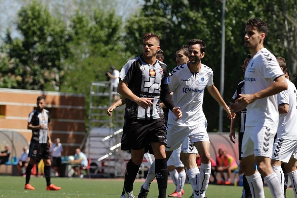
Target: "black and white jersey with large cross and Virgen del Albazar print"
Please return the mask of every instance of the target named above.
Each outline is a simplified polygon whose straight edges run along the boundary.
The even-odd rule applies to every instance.
[[[151,98],[151,102],[153,102],[154,105],[144,109],[139,107],[137,103],[126,99],[125,118],[163,118],[164,113],[158,100],[161,99],[162,86],[168,86],[168,67],[158,60],[156,60],[155,64],[150,65],[141,57],[142,56],[138,56],[128,61],[121,69],[119,79],[127,83],[128,88],[136,96],[140,98]]]

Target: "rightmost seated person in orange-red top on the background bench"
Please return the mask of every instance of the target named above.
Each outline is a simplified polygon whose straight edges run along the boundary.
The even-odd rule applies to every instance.
[[[224,172],[227,172],[228,180],[226,180],[225,185],[231,184],[231,172],[237,170],[237,163],[235,159],[230,156],[227,151],[223,151],[223,156],[221,158],[221,167],[218,167],[218,171],[221,173],[221,181],[218,182],[218,184],[223,184],[225,177]]]

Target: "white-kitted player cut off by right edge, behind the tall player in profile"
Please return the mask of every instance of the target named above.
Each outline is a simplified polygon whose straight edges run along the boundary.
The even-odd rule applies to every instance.
[[[282,57],[277,61],[285,74],[286,62]],[[292,181],[292,187],[297,197],[297,90],[290,80],[286,79],[288,89],[277,94],[279,124],[277,128],[277,139],[273,145],[271,166],[282,183],[284,190],[284,172],[281,165],[285,163],[285,170]]]

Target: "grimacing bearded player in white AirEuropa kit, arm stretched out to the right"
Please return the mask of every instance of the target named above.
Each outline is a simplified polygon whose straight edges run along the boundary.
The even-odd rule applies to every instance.
[[[188,45],[189,63],[174,68],[169,82],[169,89],[173,91],[173,102],[181,108],[184,116],[176,120],[169,112],[165,151],[168,159],[173,150],[177,149],[186,138],[194,144],[201,156],[200,173],[196,164],[196,154],[184,152],[184,165],[193,188],[191,197],[201,198],[205,197],[211,173],[209,138],[206,132],[207,121],[202,110],[205,87],[230,118],[234,118],[235,113],[230,112],[214,86],[212,69],[201,64],[206,49],[205,43],[200,39],[192,39]],[[183,144],[183,147],[187,145]]]

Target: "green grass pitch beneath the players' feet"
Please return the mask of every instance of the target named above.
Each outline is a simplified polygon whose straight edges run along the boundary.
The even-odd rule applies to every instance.
[[[102,197],[119,198],[123,188],[124,180],[119,179],[78,179],[78,178],[52,178],[51,182],[56,186],[61,186],[60,191],[47,191],[45,178],[31,178],[30,183],[35,190],[24,190],[25,178],[19,176],[0,176],[0,198],[5,197]],[[135,181],[134,194],[137,197],[140,186],[143,182]],[[158,197],[157,183],[151,184],[149,197]],[[173,183],[168,183],[167,194],[175,189]],[[185,194],[188,198],[192,188],[190,184],[185,184]],[[208,198],[240,198],[242,187],[240,186],[217,186],[209,185],[206,191]],[[270,191],[265,187],[265,197],[272,197]],[[287,197],[294,197],[292,188],[287,189]]]

